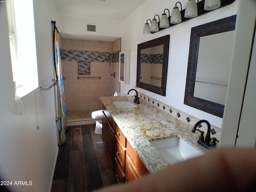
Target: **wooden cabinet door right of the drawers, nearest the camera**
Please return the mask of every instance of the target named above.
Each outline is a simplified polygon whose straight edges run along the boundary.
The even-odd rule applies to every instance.
[[[132,162],[129,155],[126,155],[126,165],[125,165],[125,182],[130,182],[132,180],[137,180],[140,178],[138,169]]]

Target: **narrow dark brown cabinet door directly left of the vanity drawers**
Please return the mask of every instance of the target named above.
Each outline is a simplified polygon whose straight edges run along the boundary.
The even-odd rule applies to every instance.
[[[114,158],[115,158],[114,142],[115,142],[115,132],[108,124],[107,152],[113,168],[114,168]]]

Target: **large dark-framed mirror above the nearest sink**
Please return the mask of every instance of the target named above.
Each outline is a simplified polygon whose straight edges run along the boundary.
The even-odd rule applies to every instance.
[[[219,86],[223,88],[223,86],[228,86],[228,82],[226,82],[225,84],[222,84],[220,82],[216,82],[216,80],[197,80],[198,76],[197,73],[198,69],[197,67],[199,66],[199,55],[200,55],[200,50],[208,50],[210,48],[212,48],[212,46],[214,46],[215,43],[208,43],[209,46],[207,46],[207,44],[204,44],[204,47],[200,47],[201,46],[201,42],[203,41],[202,38],[205,38],[206,36],[212,36],[212,35],[216,35],[216,34],[224,34],[226,32],[230,32],[235,30],[235,25],[236,25],[236,15],[234,16],[230,16],[227,18],[223,18],[220,20],[216,20],[214,22],[210,22],[210,23],[206,23],[200,26],[196,26],[194,28],[191,29],[191,36],[190,36],[190,48],[189,48],[189,55],[188,55],[188,70],[187,70],[187,77],[186,77],[186,88],[185,88],[185,96],[184,96],[184,104],[191,106],[193,108],[202,110],[204,112],[213,114],[215,116],[218,117],[223,117],[223,112],[224,112],[224,104],[223,102],[214,102],[214,101],[210,101],[210,99],[202,99],[199,96],[197,96],[197,94],[195,94],[195,84],[196,82],[199,83],[203,83],[203,84],[208,84],[210,86]],[[213,37],[213,36],[212,36]],[[201,42],[200,42],[200,38],[201,38]],[[215,40],[217,37],[214,37]],[[213,38],[213,39],[214,39]],[[223,42],[226,44],[227,42],[225,42],[226,39],[223,40]],[[232,40],[231,40],[232,41]],[[233,43],[233,42],[232,42]],[[216,49],[220,49],[217,48]],[[231,48],[232,49],[232,44],[231,44]],[[220,52],[220,51],[219,51]],[[214,62],[217,64],[219,64],[220,60],[215,61],[215,58],[224,58],[224,57],[230,57],[230,63],[231,63],[231,50],[230,50],[230,55],[228,55],[229,53],[226,53],[226,51],[222,52],[222,55],[214,55],[212,54],[212,57],[208,56],[208,61],[207,59],[204,60],[204,62],[209,62],[210,60],[214,60]],[[229,64],[230,65],[230,64]],[[206,69],[208,69],[210,65],[204,67]],[[218,72],[221,72],[222,69],[217,69]],[[211,71],[212,73],[212,71]],[[227,79],[228,79],[228,75],[229,75],[229,69],[228,69],[228,74],[226,74]],[[224,75],[225,76],[225,75]],[[221,78],[217,77],[216,78],[217,81]],[[215,82],[214,82],[215,81]],[[202,89],[202,92],[207,92],[206,89]],[[215,92],[214,92],[215,93]],[[217,95],[213,95],[212,97],[215,97]],[[226,94],[224,95],[224,97],[226,98]],[[224,98],[224,100],[225,100]]]

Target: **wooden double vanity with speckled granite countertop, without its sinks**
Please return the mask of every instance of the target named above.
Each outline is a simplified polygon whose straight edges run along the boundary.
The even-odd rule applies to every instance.
[[[144,100],[134,103],[134,96],[101,97],[103,106],[102,140],[118,182],[138,179],[170,163],[150,143],[152,140],[178,137],[204,154],[197,144],[199,135],[192,127],[152,106]],[[129,107],[113,101],[126,101]]]

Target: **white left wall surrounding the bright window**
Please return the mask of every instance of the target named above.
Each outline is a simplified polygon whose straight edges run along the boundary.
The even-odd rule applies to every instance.
[[[53,76],[51,19],[56,16],[52,7],[52,0],[34,1],[40,86],[48,86]],[[50,191],[58,154],[54,93],[37,88],[21,98],[23,113],[15,115],[4,3],[0,3],[0,18],[0,177],[12,181],[9,189],[15,192]],[[32,181],[32,186],[14,186],[15,181]]]

